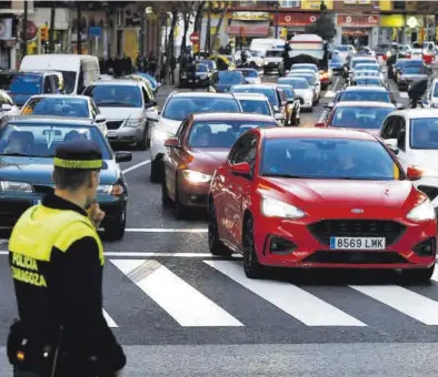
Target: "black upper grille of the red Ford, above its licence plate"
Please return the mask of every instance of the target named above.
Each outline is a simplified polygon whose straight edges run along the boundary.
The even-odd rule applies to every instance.
[[[405,232],[400,223],[382,220],[323,220],[308,226],[310,233],[329,246],[330,237],[385,237],[394,244]]]

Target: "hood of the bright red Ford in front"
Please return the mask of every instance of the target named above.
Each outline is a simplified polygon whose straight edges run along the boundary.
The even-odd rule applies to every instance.
[[[401,208],[414,190],[409,181],[266,179],[282,200],[298,207],[380,206]],[[360,195],[357,193],[360,192]],[[281,200],[281,198],[280,198]]]

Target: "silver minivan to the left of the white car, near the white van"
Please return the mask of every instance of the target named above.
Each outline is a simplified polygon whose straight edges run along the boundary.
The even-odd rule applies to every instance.
[[[136,144],[146,150],[150,140],[148,115],[158,114],[157,101],[149,98],[142,82],[135,80],[101,80],[84,91],[107,119],[110,142]],[[152,115],[153,116],[153,115]]]

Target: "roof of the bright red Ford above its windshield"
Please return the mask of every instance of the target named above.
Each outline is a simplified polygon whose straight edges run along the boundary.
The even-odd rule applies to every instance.
[[[366,131],[351,129],[317,129],[317,128],[271,128],[259,129],[266,139],[282,137],[316,137],[316,139],[351,139],[377,141],[377,139]]]

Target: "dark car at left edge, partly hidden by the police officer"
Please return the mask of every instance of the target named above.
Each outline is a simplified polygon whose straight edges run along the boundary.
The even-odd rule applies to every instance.
[[[53,192],[52,170],[56,147],[68,141],[91,140],[99,144],[100,171],[98,203],[106,216],[104,235],[123,237],[128,184],[119,162],[131,161],[129,152],[113,153],[99,126],[89,120],[56,116],[17,116],[0,129],[0,226],[13,227],[30,206]]]

